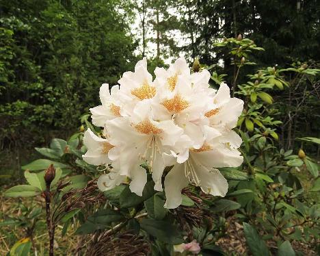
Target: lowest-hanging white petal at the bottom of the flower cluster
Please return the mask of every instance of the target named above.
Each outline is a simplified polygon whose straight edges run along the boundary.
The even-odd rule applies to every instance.
[[[165,208],[174,209],[181,205],[182,196],[181,190],[185,188],[189,181],[187,177],[185,177],[185,164],[176,164],[165,176]]]

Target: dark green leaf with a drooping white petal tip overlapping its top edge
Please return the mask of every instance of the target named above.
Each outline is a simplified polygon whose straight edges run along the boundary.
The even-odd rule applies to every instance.
[[[156,193],[156,191],[153,189],[154,186],[155,183],[153,181],[148,181],[144,186],[142,196],[137,196],[135,193],[130,191],[129,185],[127,185],[120,194],[120,206],[122,208],[134,207],[135,205],[139,205],[139,203],[150,199],[150,197]]]

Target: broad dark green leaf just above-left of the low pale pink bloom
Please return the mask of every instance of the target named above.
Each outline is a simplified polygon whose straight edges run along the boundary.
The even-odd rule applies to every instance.
[[[145,218],[141,220],[140,227],[161,242],[168,244],[183,243],[183,234],[172,222]]]

